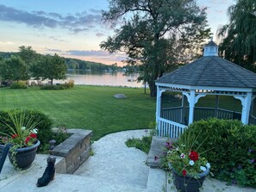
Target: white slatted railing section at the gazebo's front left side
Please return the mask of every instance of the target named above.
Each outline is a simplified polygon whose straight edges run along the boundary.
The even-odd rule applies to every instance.
[[[160,137],[170,137],[172,139],[178,139],[178,137],[182,133],[184,133],[184,129],[187,126],[179,124],[174,121],[169,121],[163,118],[159,118],[158,127],[159,127]]]

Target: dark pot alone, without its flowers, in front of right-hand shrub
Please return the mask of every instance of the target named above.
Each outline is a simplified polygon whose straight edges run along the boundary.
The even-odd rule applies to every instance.
[[[180,176],[178,173],[172,169],[173,183],[178,191],[181,192],[199,192],[200,188],[203,186],[204,178],[209,174],[209,169],[195,177]]]

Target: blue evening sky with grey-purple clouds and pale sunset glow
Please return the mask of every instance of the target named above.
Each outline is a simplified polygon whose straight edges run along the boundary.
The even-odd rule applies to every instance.
[[[197,0],[207,7],[209,28],[228,23],[234,0]],[[123,53],[109,54],[99,44],[113,34],[101,20],[108,0],[0,0],[0,52],[32,46],[37,53],[54,54],[111,65],[123,65]]]

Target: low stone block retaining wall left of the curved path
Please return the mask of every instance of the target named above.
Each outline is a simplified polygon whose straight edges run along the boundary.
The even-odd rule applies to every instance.
[[[72,135],[56,146],[52,155],[63,157],[55,165],[57,173],[72,174],[90,156],[92,131],[68,129],[67,132]]]

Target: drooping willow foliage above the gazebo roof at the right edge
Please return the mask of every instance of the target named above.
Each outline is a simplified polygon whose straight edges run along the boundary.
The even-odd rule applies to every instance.
[[[256,71],[256,1],[236,0],[228,8],[228,24],[219,29],[225,59]]]

